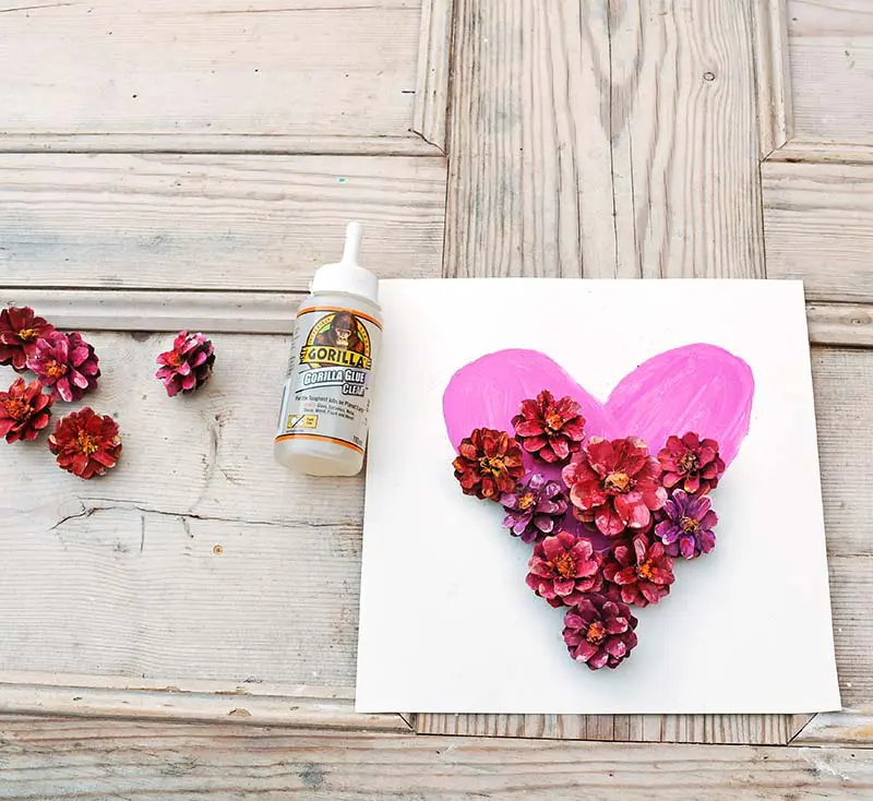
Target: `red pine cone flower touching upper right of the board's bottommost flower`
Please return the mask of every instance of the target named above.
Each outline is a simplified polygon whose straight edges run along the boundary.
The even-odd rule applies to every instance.
[[[625,603],[647,607],[670,593],[674,581],[673,560],[660,540],[654,542],[637,534],[631,542],[620,542],[603,564],[603,578],[618,585]]]

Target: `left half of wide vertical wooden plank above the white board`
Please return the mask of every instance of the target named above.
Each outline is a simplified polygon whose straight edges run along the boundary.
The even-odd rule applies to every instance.
[[[446,276],[615,275],[603,2],[456,0]]]

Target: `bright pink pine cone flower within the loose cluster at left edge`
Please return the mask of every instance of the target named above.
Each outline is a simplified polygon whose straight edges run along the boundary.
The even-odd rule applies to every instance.
[[[94,348],[80,334],[61,334],[60,331],[36,343],[27,367],[36,373],[39,383],[50,390],[52,397],[68,403],[79,400],[97,386],[100,376]]]

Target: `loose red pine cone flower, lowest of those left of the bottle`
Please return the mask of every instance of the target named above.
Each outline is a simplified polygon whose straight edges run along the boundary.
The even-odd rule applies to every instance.
[[[48,438],[48,446],[61,468],[89,479],[116,466],[121,438],[118,423],[109,415],[100,417],[86,406],[58,420]]]

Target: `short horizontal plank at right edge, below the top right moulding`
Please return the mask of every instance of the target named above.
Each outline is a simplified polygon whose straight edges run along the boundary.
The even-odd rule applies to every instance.
[[[767,275],[809,300],[873,300],[873,166],[765,162]]]

